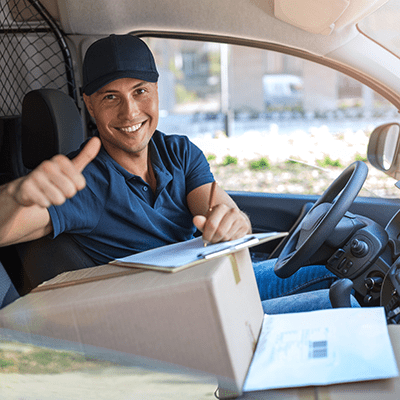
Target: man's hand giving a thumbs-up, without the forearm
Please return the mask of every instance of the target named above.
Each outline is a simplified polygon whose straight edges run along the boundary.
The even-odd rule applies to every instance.
[[[64,203],[86,186],[82,171],[96,157],[100,146],[100,139],[94,137],[72,160],[58,154],[43,161],[28,175],[10,182],[8,194],[25,207],[38,205],[47,208]]]

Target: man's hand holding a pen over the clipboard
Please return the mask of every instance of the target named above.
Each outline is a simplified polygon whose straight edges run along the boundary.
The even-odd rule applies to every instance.
[[[251,224],[246,214],[237,207],[218,204],[206,216],[196,215],[193,218],[196,228],[203,234],[208,243],[235,240],[251,233]]]

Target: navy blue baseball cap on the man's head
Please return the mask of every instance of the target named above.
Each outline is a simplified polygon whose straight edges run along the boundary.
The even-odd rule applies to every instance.
[[[94,42],[83,60],[83,93],[90,96],[120,78],[157,82],[158,72],[147,44],[133,35],[110,35]]]

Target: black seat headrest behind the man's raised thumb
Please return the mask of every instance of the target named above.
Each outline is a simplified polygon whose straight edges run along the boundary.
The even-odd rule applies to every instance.
[[[55,89],[27,93],[22,102],[21,147],[33,169],[56,154],[77,150],[85,140],[83,121],[71,97]]]

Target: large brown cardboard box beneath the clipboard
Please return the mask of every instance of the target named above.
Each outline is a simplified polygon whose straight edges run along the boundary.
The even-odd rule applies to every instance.
[[[263,320],[248,249],[175,272],[67,272],[0,310],[0,327],[216,375],[240,393]]]

